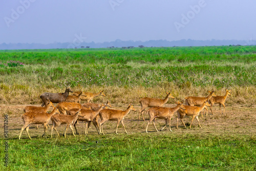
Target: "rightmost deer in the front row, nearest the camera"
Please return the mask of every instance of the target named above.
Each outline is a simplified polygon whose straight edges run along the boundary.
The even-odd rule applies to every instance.
[[[192,116],[192,120],[191,120],[191,123],[190,123],[190,126],[189,126],[190,129],[191,129],[191,124],[192,124],[192,122],[193,122],[193,120],[195,118],[197,119],[200,128],[202,128],[202,126],[200,125],[199,119],[198,119],[198,115],[204,109],[205,106],[210,106],[210,104],[207,102],[207,100],[205,100],[201,106],[191,106],[191,105],[183,105],[183,106],[184,106],[185,110],[179,109],[177,111],[177,113],[178,113],[178,116],[177,116],[177,119],[176,119],[176,121],[177,121],[177,125],[176,125],[177,129],[178,129],[178,121],[179,120],[181,120],[181,122],[183,123],[183,125],[186,128],[186,125],[185,125],[185,123],[182,120],[185,116]]]

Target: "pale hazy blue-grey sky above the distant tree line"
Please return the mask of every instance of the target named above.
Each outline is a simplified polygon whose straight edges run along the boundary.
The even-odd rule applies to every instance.
[[[255,0],[1,0],[0,44],[256,37]]]

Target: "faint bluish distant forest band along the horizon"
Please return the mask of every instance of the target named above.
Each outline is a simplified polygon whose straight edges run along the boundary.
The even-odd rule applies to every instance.
[[[74,49],[74,48],[133,48],[133,47],[175,47],[175,46],[250,46],[256,45],[256,40],[191,40],[182,39],[177,41],[148,40],[148,41],[122,41],[116,39],[110,42],[54,42],[52,44],[0,44],[0,50],[11,49]]]

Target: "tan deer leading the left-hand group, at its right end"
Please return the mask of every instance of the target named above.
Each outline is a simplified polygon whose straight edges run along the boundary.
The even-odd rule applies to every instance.
[[[104,110],[100,111],[99,116],[101,118],[101,121],[99,122],[99,130],[100,130],[99,134],[102,133],[104,135],[103,123],[108,120],[111,120],[111,121],[116,120],[117,121],[116,134],[117,134],[117,128],[118,128],[120,122],[123,125],[123,129],[124,129],[125,133],[127,134],[124,124],[123,124],[123,119],[126,115],[129,114],[129,112],[131,110],[136,112],[136,109],[134,109],[134,106],[132,104],[129,104],[128,108],[125,111],[113,110],[113,109],[104,109]]]

